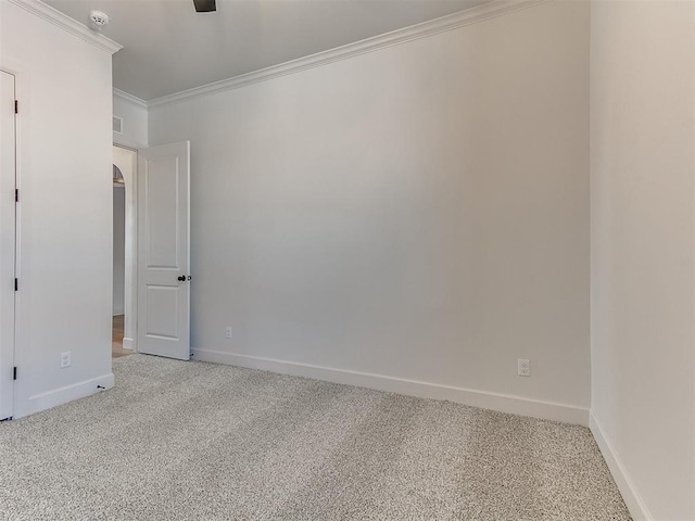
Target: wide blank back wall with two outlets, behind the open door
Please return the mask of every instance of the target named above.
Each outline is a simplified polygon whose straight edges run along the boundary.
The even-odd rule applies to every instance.
[[[191,140],[195,356],[584,410],[587,67],[552,2],[152,109]]]

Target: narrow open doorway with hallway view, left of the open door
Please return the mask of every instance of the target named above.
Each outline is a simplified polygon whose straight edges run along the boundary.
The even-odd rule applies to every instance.
[[[112,357],[136,352],[138,153],[113,148],[113,312]]]

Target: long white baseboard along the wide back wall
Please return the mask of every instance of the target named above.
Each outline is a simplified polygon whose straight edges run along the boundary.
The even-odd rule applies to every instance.
[[[328,367],[276,360],[257,356],[222,353],[218,351],[193,350],[193,359],[241,366],[251,369],[314,378],[328,382],[344,383],[359,387],[376,389],[391,393],[406,394],[422,398],[447,399],[472,407],[493,409],[520,416],[531,416],[546,420],[589,425],[589,409],[566,404],[541,402],[522,396],[514,396],[471,389],[454,387],[435,383],[418,382],[402,378],[367,372],[331,369]]]

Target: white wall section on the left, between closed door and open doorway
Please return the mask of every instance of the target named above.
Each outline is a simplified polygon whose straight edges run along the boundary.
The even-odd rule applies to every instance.
[[[20,99],[20,417],[113,381],[111,53],[1,1],[0,66]]]

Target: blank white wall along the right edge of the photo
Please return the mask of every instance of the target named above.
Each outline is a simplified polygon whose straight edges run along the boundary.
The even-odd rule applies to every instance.
[[[636,520],[695,519],[694,31],[592,3],[592,427]]]

